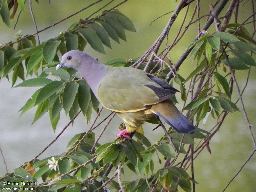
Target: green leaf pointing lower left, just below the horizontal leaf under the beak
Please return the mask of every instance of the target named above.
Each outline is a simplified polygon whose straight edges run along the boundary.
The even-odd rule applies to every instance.
[[[53,93],[58,92],[60,89],[64,87],[63,83],[60,81],[52,81],[51,83],[45,85],[42,89],[40,89],[34,106],[42,103],[48,97],[50,97]]]

